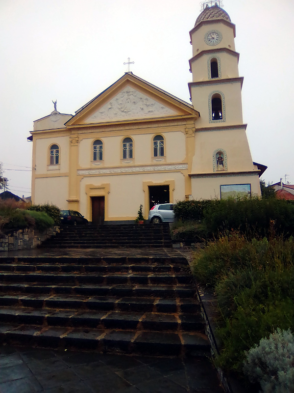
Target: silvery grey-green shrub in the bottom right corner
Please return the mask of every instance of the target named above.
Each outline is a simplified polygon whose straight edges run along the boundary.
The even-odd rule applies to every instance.
[[[294,337],[279,328],[246,354],[244,372],[264,393],[294,392]]]

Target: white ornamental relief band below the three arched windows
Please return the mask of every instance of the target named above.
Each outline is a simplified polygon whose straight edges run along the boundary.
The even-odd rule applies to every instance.
[[[165,165],[141,165],[117,168],[90,168],[77,169],[78,175],[111,174],[111,173],[134,173],[134,172],[157,172],[165,170],[188,169],[188,164],[165,164]]]

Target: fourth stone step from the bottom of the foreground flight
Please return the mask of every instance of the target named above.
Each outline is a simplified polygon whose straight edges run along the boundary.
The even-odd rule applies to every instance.
[[[85,296],[119,296],[119,297],[160,297],[193,298],[193,285],[94,285],[82,284],[46,284],[45,282],[3,283],[0,282],[0,293],[35,293],[35,294],[71,294]]]

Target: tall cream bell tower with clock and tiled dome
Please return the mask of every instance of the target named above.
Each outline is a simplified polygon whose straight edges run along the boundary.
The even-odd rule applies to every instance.
[[[247,195],[260,195],[260,170],[252,162],[243,123],[243,77],[239,76],[235,36],[235,25],[220,0],[204,2],[190,31],[193,82],[189,90],[194,109],[200,112],[190,174],[195,199],[223,198],[234,188],[236,193],[244,189]]]

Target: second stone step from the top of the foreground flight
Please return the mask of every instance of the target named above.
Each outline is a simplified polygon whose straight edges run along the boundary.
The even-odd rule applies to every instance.
[[[178,265],[105,265],[105,264],[0,264],[0,272],[48,272],[48,273],[182,273],[186,266]],[[191,273],[189,272],[189,276]]]

